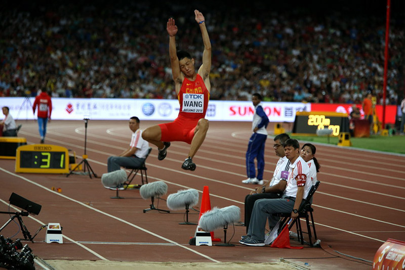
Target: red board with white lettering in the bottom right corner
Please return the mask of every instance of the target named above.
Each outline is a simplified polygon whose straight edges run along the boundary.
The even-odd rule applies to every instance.
[[[405,269],[405,242],[388,238],[374,255],[373,270]]]

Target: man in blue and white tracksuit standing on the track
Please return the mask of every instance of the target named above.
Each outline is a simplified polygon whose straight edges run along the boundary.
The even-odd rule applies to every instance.
[[[246,171],[248,174],[248,179],[242,181],[244,184],[264,184],[264,145],[267,139],[266,127],[269,123],[269,118],[260,104],[261,101],[262,96],[260,94],[255,93],[252,95],[253,106],[255,106],[255,114],[253,115],[252,123],[253,134],[249,140],[248,151],[246,152]],[[255,158],[257,159],[257,175],[255,169]]]

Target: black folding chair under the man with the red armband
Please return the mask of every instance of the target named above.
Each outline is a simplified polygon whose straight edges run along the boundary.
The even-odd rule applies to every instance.
[[[308,234],[309,245],[312,246],[311,227],[313,230],[313,236],[315,238],[315,242],[316,242],[316,240],[318,240],[318,238],[316,237],[315,223],[313,221],[313,215],[312,215],[313,208],[311,206],[311,201],[312,201],[311,199],[312,199],[315,191],[318,189],[319,184],[320,184],[320,182],[316,181],[315,184],[312,185],[305,202],[298,209],[298,217],[296,219],[294,219],[293,222],[291,222],[290,226],[289,226],[289,230],[291,230],[291,228],[294,226],[294,223],[296,224],[298,241],[300,241],[302,245],[304,244],[303,234]],[[284,228],[284,226],[287,225],[286,222],[288,222],[288,220],[291,218],[291,213],[278,213],[277,216],[283,218],[281,220],[281,226],[280,226],[280,231],[281,231]],[[311,216],[311,221],[309,221],[309,216]],[[304,218],[304,217],[305,217],[305,221],[306,221],[306,225],[307,225],[307,232],[303,232],[302,228],[301,228],[301,219],[300,218]]]

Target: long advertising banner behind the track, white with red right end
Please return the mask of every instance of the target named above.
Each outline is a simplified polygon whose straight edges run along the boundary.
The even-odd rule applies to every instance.
[[[14,119],[36,119],[32,113],[34,98],[0,98],[0,107],[8,106]],[[294,122],[296,112],[351,112],[351,104],[315,104],[298,102],[262,102],[270,122]],[[73,99],[52,98],[52,119],[55,120],[174,120],[179,114],[178,100],[153,99]],[[382,106],[377,106],[382,117]],[[361,111],[362,113],[362,111]],[[211,121],[252,121],[254,107],[251,101],[218,101],[208,104],[206,118]],[[396,106],[386,106],[386,123],[394,123]],[[381,120],[380,120],[381,121]]]

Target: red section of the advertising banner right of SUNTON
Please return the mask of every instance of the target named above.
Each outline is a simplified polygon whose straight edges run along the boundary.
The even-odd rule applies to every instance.
[[[328,103],[311,103],[311,111],[317,112],[339,112],[339,113],[347,113],[350,114],[352,104],[328,104]],[[360,108],[361,117],[364,116],[364,112],[361,108],[361,105],[357,105]],[[382,122],[383,119],[383,106],[377,105],[376,112],[378,119]],[[394,124],[396,117],[396,106],[395,105],[387,105],[385,106],[385,123],[386,124]]]

